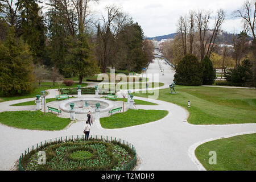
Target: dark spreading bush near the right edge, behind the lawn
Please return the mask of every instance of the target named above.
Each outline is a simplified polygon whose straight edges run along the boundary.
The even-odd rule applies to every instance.
[[[232,82],[234,86],[246,86],[247,82],[253,78],[251,67],[249,59],[243,60],[237,68],[230,69],[225,73],[226,80]]]

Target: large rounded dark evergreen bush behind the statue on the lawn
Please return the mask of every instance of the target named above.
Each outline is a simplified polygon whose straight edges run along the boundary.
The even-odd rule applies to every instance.
[[[176,67],[174,81],[178,85],[199,86],[203,84],[201,64],[196,56],[187,54]]]

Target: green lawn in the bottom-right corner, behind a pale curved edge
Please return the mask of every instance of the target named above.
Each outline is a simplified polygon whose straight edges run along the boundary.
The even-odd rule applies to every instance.
[[[218,139],[196,148],[197,159],[211,171],[255,171],[256,134]],[[209,164],[209,152],[217,154],[217,164]]]

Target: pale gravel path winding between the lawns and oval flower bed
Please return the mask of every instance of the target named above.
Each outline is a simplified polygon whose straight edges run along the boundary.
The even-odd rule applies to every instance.
[[[174,77],[174,71],[163,64],[164,76],[159,81],[168,87]],[[150,64],[147,73],[159,73],[157,61]],[[162,87],[162,88],[163,88]],[[57,90],[49,90],[47,98],[55,97]],[[256,124],[241,125],[191,125],[187,122],[188,111],[183,107],[159,100],[135,97],[135,99],[154,102],[158,105],[137,105],[137,109],[168,110],[163,119],[144,125],[124,129],[102,129],[99,122],[92,126],[91,134],[118,137],[133,143],[141,158],[138,170],[199,170],[192,146],[212,138],[239,133],[256,133]],[[11,104],[34,100],[34,98],[2,102],[0,112],[7,110],[30,110],[28,107],[11,107]],[[30,106],[31,107],[31,106]],[[34,106],[35,107],[35,106]],[[37,131],[15,129],[0,124],[0,170],[9,170],[14,166],[19,155],[40,141],[67,135],[81,135],[84,122],[73,123],[61,131]]]

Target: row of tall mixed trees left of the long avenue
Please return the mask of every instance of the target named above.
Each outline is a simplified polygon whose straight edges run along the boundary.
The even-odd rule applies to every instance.
[[[116,6],[107,6],[107,14],[94,19],[91,7],[98,3],[98,0],[48,0],[48,9],[42,12],[37,0],[1,0],[0,80],[5,81],[1,81],[0,88],[5,90],[3,93],[30,92],[32,86],[16,85],[22,85],[20,82],[26,79],[32,85],[36,79],[32,73],[39,73],[34,68],[52,69],[64,77],[77,76],[81,83],[85,76],[105,73],[109,66],[135,72],[146,67],[153,58],[154,47],[143,41],[141,26]],[[11,48],[16,54],[10,54]],[[16,76],[10,71],[14,71],[13,67],[17,69],[15,73],[20,72],[19,67],[27,68],[30,78],[17,75],[20,80],[14,81]]]

